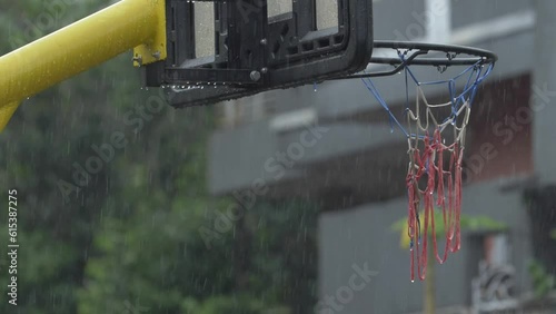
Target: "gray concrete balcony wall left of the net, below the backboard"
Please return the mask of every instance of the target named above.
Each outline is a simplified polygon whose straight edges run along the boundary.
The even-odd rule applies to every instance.
[[[272,130],[270,124],[262,120],[231,131],[218,131],[212,136],[209,144],[209,188],[214,194],[249,188],[258,178],[266,180],[268,185],[296,179],[310,164],[378,149],[385,145],[398,144],[401,148],[391,150],[391,154],[388,150],[376,155],[374,159],[381,167],[385,164],[394,166],[391,163],[396,157],[405,158],[406,140],[399,134],[391,133],[387,124],[321,122],[317,127],[322,128],[318,137],[310,133],[312,124],[310,128],[301,126],[299,130],[288,133]],[[298,151],[299,147],[302,151]],[[284,167],[286,175],[278,180],[275,179],[277,173],[272,167],[277,164],[277,154],[284,154],[292,163],[291,167]]]

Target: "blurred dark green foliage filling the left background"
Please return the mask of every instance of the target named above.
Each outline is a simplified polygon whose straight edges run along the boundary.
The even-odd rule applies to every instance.
[[[29,42],[113,1],[75,2],[27,38],[28,21],[50,2],[0,0],[0,55],[12,38]],[[317,208],[259,202],[207,248],[199,227],[214,229],[215,213],[231,203],[207,192],[212,109],[165,107],[140,128],[126,124],[152,95],[123,53],[20,106],[0,137],[0,185],[21,193],[20,300],[16,310],[0,303],[0,313],[133,312],[126,302],[148,313],[311,311]],[[64,199],[58,183],[77,185],[75,164],[85,166],[115,131],[125,149]]]

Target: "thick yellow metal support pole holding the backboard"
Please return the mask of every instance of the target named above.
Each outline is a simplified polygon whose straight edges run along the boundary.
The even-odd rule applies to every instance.
[[[0,57],[0,131],[23,99],[127,50],[166,59],[165,11],[165,0],[122,0]]]

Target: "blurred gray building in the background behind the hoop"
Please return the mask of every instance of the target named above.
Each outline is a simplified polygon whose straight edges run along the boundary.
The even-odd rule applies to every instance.
[[[486,261],[508,266],[509,277],[489,284],[499,285],[499,293],[483,295],[490,304],[486,306],[527,308],[535,290],[530,261],[548,268],[556,264],[549,238],[556,219],[550,207],[556,183],[556,28],[548,14],[556,11],[554,1],[374,2],[376,39],[449,42],[498,53],[470,119],[463,212],[503,222],[508,230],[465,232],[463,249],[436,268],[436,301],[445,313],[468,313],[474,300],[481,298],[481,285],[473,282],[488,276],[479,274]],[[322,12],[318,23],[330,27],[337,17],[326,6],[336,2],[317,3]],[[274,6],[277,18],[291,8],[288,0]],[[401,104],[400,84],[375,81],[389,104]],[[400,133],[390,131],[386,112],[359,80],[265,92],[220,104],[218,110],[219,129],[209,156],[214,195],[246,196],[264,181],[270,189],[258,199],[300,197],[319,204],[320,297],[346,286],[354,265],[367,263],[378,273],[338,313],[421,308],[424,285],[409,283],[409,254],[391,230],[407,212],[407,143]],[[504,291],[510,295],[504,296]]]

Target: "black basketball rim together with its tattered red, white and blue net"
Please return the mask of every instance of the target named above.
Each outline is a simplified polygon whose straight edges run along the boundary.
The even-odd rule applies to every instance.
[[[371,63],[393,66],[394,69],[367,70],[348,78],[361,78],[368,90],[388,112],[391,126],[397,126],[407,137],[409,156],[406,177],[407,234],[410,238],[410,277],[414,282],[415,266],[417,266],[418,276],[423,281],[426,276],[429,225],[434,253],[440,264],[447,259],[448,253],[455,253],[460,248],[461,158],[466,127],[477,88],[493,70],[497,57],[493,52],[475,48],[419,42],[375,41],[374,48]],[[395,53],[378,57],[377,49]],[[461,69],[449,78],[421,81],[417,78],[416,66],[433,66],[440,76],[447,75],[448,69]],[[388,107],[371,80],[374,77],[397,73],[405,76],[406,108],[403,114],[405,124],[400,122],[403,119],[397,118]],[[411,85],[415,86],[416,95],[414,105],[409,104]],[[424,88],[443,85],[447,87],[449,99],[443,104],[429,102]],[[438,254],[435,234],[435,207],[441,210],[446,232],[446,246],[441,257]],[[421,208],[424,220],[419,214]],[[417,265],[415,265],[416,259]]]

